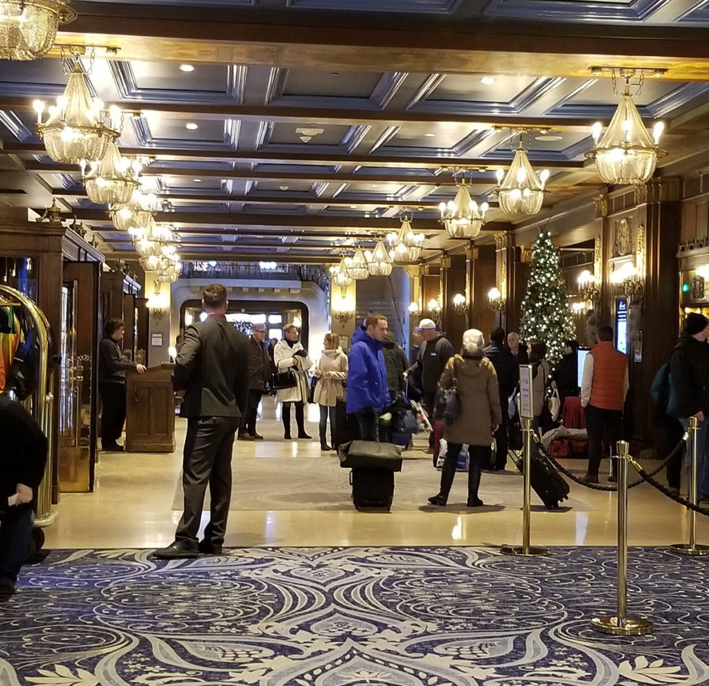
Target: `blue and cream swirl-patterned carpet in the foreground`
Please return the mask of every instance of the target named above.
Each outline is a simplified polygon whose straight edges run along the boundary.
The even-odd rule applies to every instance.
[[[518,559],[465,547],[251,548],[193,561],[51,551],[0,605],[1,686],[709,684],[707,561],[615,550]]]

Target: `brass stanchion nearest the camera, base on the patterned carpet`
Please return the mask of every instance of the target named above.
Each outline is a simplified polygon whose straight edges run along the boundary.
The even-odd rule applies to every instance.
[[[603,634],[639,636],[652,634],[652,622],[627,616],[627,441],[618,441],[618,614],[594,617],[591,627]]]

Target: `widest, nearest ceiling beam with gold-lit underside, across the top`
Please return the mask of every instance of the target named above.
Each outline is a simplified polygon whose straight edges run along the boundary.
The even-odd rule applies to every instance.
[[[121,59],[287,65],[418,74],[586,76],[592,64],[669,69],[669,78],[709,80],[704,28],[491,21],[406,15],[374,25],[357,12],[174,8],[75,2],[79,17],[60,43],[109,45]],[[110,33],[106,33],[107,29]],[[471,49],[474,46],[474,49]],[[501,50],[501,46],[504,50]],[[549,47],[553,46],[553,52]]]

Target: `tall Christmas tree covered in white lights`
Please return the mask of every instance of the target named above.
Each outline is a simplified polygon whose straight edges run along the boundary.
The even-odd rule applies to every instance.
[[[547,359],[554,364],[564,353],[564,341],[574,338],[574,321],[559,267],[559,253],[548,231],[540,231],[532,249],[530,277],[522,301],[520,336],[544,341]]]

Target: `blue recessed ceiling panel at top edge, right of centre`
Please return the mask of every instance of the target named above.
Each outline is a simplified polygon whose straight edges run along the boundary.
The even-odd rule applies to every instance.
[[[668,0],[491,0],[484,15],[533,21],[644,21]]]

